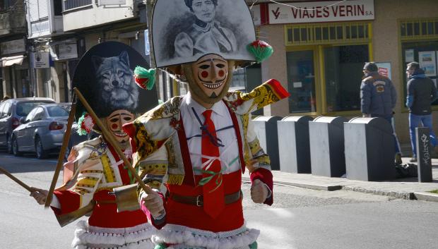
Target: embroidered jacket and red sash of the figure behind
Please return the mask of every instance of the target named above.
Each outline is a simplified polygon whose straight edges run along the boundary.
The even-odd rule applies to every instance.
[[[146,223],[141,210],[117,212],[114,195],[109,194],[129,183],[128,170],[102,138],[81,142],[73,147],[64,165],[64,185],[54,191],[61,207],[52,209],[59,218],[97,202],[88,219],[90,226],[124,228]]]

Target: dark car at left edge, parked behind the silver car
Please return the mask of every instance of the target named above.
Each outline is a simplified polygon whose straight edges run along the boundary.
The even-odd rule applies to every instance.
[[[28,97],[7,99],[0,104],[0,146],[6,147],[11,153],[12,130],[20,125],[20,119],[28,116],[30,110],[39,104],[54,103],[53,99],[45,97]]]

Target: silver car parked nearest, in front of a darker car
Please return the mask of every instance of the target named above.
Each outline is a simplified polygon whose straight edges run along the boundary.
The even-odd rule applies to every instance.
[[[13,154],[36,152],[38,159],[44,159],[49,152],[59,151],[69,119],[66,104],[41,104],[21,119],[20,126],[12,133]]]

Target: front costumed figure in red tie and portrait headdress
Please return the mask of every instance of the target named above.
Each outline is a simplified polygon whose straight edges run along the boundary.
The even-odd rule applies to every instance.
[[[166,22],[160,18],[164,11],[171,11],[169,4],[180,3],[155,2],[153,30],[157,30],[154,23]],[[247,32],[241,42],[249,44],[249,50],[262,51],[256,53],[257,58],[270,55],[268,44],[254,42],[254,25],[244,1],[227,4],[224,8],[247,14],[252,27],[236,24]],[[137,196],[150,222],[160,229],[152,238],[156,249],[257,247],[259,231],[245,226],[242,174],[249,169],[251,199],[266,205],[273,203],[273,177],[269,157],[254,133],[251,112],[289,94],[277,80],[268,80],[247,94],[228,92],[235,63],[259,61],[242,44],[237,47],[243,49],[234,56],[213,48],[194,61],[189,55],[178,65],[166,65],[155,50],[156,64],[184,79],[189,93],[172,97],[124,125],[131,137],[133,165],[154,190],[146,193],[138,188]]]

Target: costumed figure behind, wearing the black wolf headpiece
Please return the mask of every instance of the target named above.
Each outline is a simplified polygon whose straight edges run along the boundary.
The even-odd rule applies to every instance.
[[[106,54],[107,51],[111,54]],[[134,71],[130,69],[129,64],[146,65],[146,61],[137,54],[134,49],[122,43],[104,42],[93,47],[83,56],[73,77],[76,87],[90,101],[90,106],[95,109],[97,117],[112,133],[117,140],[117,146],[128,159],[131,159],[132,150],[129,137],[122,130],[122,126],[124,123],[134,121],[134,113],[146,111],[147,107],[158,103],[156,97],[154,98],[155,92],[144,93],[147,91],[138,88],[134,82]],[[93,66],[90,66],[91,64]],[[111,75],[112,68],[124,70],[127,75]],[[110,86],[98,85],[106,82],[111,83]],[[105,95],[102,90],[97,91],[97,88],[106,88]],[[134,102],[133,98],[126,97],[126,101],[112,104],[111,96],[132,95],[132,92],[129,92],[131,88],[136,90],[137,97]],[[143,97],[150,95],[151,97],[148,98],[150,103],[139,102],[138,95]],[[80,127],[78,133],[85,135],[91,130],[99,133],[95,121],[80,103],[76,107],[76,114],[81,116],[77,120]],[[84,209],[92,211],[88,220],[78,221],[73,248],[148,249],[154,247],[150,237],[156,229],[148,223],[141,209],[117,212],[113,189],[133,182],[126,165],[103,136],[81,142],[71,149],[68,162],[64,164],[64,185],[54,191],[50,206],[61,226],[78,219],[78,214],[83,213]],[[31,195],[38,203],[44,204],[47,190],[34,189],[35,192]]]

